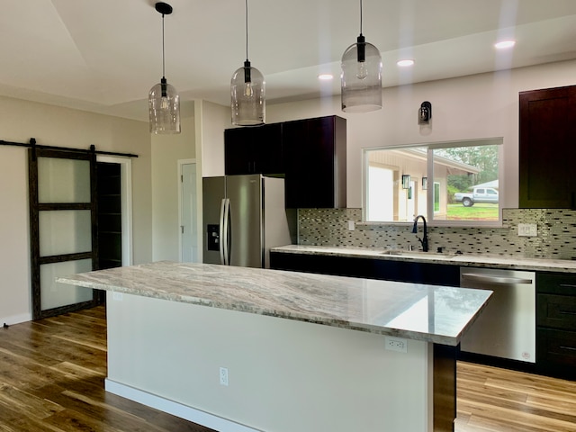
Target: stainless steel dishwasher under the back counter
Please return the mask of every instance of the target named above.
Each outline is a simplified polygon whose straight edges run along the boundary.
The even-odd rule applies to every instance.
[[[460,267],[460,286],[494,292],[461,350],[536,363],[536,274]]]

